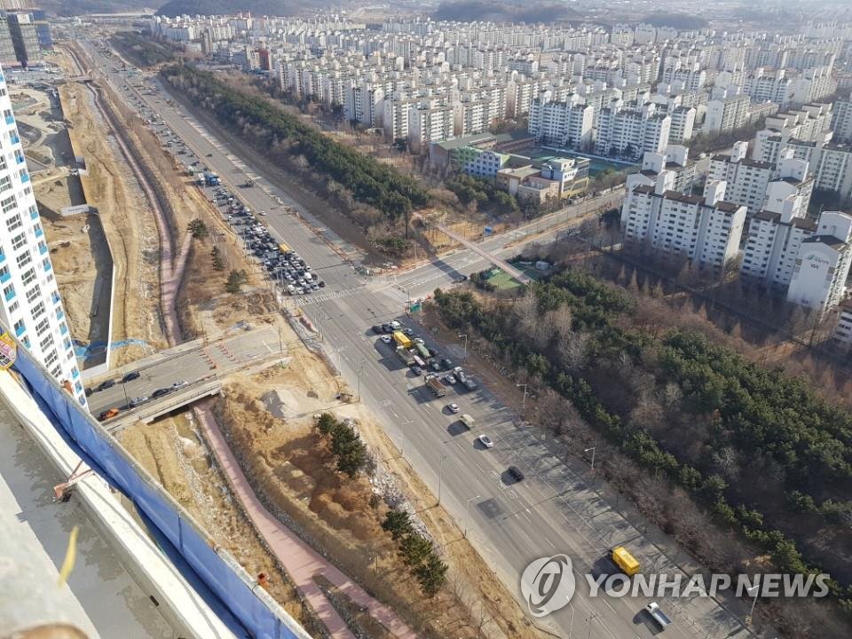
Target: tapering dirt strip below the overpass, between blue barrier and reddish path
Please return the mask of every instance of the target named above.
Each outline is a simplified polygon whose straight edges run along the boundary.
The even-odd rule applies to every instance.
[[[310,627],[312,614],[304,610],[296,588],[241,509],[234,508],[225,477],[213,462],[192,414],[138,423],[123,430],[119,441],[248,574],[264,572],[269,593],[294,619]]]

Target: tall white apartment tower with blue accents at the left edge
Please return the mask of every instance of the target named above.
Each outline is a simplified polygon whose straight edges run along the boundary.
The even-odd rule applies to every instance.
[[[0,69],[0,319],[60,383],[86,405],[74,346],[38,215],[12,101]]]

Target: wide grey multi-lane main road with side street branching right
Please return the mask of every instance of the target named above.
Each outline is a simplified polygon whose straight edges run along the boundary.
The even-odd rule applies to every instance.
[[[100,57],[96,47],[83,44],[94,57],[95,67],[110,67],[110,60]],[[393,318],[406,321],[406,300],[450,285],[462,273],[481,270],[485,261],[467,250],[458,250],[398,275],[362,277],[351,262],[343,260],[301,219],[286,213],[276,202],[278,198],[287,202],[302,217],[310,218],[310,211],[250,170],[190,114],[167,106],[162,91],[153,96],[139,95],[125,88],[125,75],[113,72],[109,77],[120,95],[137,95],[145,100],[147,108],[158,113],[250,208],[269,211],[265,220],[273,233],[295,248],[326,280],[327,288],[304,297],[298,304],[315,326],[322,327],[330,358],[339,364],[351,386],[359,388],[361,398],[406,460],[435,494],[440,485],[441,503],[458,524],[459,535],[467,534],[493,567],[495,579],[503,580],[520,601],[520,574],[533,559],[557,553],[572,558],[578,594],[561,611],[536,619],[536,625],[557,636],[575,633],[622,639],[656,634],[651,619],[640,612],[649,598],[590,597],[582,575],[612,572],[603,557],[609,548],[619,544],[634,551],[643,564],[643,572],[673,574],[682,566],[689,566],[689,559],[675,544],[652,526],[647,526],[646,532],[635,513],[627,517],[632,511],[624,504],[618,509],[605,501],[591,480],[588,466],[580,460],[566,463],[557,459],[547,438],[523,425],[517,414],[482,384],[472,392],[457,391],[456,385],[448,390],[446,398],[432,398],[423,388],[422,378],[404,367],[390,346],[381,343],[370,330],[377,322]],[[247,175],[255,179],[256,186],[238,188]],[[560,215],[570,218],[579,212],[580,209],[569,209]],[[481,246],[505,256],[517,250],[517,246],[507,245],[523,241],[525,233],[535,231],[533,225],[517,234],[489,238]],[[421,336],[442,355],[462,364],[461,340],[438,344],[432,342],[430,335]],[[446,410],[446,403],[451,401],[459,403],[463,413],[476,418],[476,428],[460,427],[456,415]],[[493,448],[477,444],[477,437],[483,433],[495,442]],[[510,464],[524,470],[525,481],[511,481],[506,473]],[[675,621],[667,629],[667,636],[749,635],[739,619],[714,599],[663,597],[658,601]]]

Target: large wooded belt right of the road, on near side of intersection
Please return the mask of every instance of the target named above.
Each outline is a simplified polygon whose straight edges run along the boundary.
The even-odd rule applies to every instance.
[[[534,283],[517,300],[437,290],[434,301],[447,324],[474,330],[533,381],[570,399],[612,446],[682,487],[779,570],[820,572],[800,549],[814,530],[797,528],[797,514],[852,525],[852,503],[843,501],[852,485],[852,414],[801,380],[695,332],[637,330],[633,299],[577,269]],[[737,469],[746,460],[780,477],[780,504],[751,497],[751,476]],[[842,555],[832,555],[837,567]],[[832,580],[832,593],[848,606],[852,588],[842,581]]]

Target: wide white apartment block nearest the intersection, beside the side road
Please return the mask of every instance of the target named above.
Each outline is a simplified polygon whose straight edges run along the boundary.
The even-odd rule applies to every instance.
[[[626,241],[722,269],[737,256],[746,207],[724,201],[722,182],[710,185],[703,198],[665,188],[660,180],[627,193],[621,209]]]

